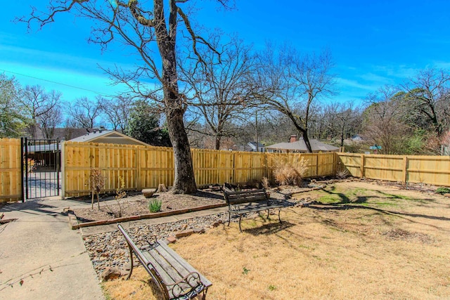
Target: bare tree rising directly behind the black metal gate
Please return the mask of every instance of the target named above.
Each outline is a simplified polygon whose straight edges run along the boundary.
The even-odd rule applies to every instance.
[[[46,118],[56,114],[56,106],[60,101],[61,93],[56,91],[47,92],[41,86],[26,86],[20,99],[29,124],[27,133],[32,138],[37,138],[39,124],[46,122]]]

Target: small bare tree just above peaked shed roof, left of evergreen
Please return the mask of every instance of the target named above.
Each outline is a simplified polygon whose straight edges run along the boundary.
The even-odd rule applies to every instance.
[[[101,115],[101,97],[91,100],[87,97],[78,98],[75,103],[69,103],[68,115],[75,121],[78,128],[94,128],[96,119]]]

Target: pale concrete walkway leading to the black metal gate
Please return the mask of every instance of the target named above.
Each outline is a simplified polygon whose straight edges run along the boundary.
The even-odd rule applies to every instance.
[[[17,219],[0,225],[0,299],[104,299],[79,230],[61,214],[82,205],[53,198],[0,209]]]

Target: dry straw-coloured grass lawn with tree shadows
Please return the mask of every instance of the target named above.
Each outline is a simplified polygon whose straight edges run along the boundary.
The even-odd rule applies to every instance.
[[[450,199],[372,183],[302,194],[322,204],[232,223],[172,247],[213,285],[207,299],[450,299]],[[158,299],[149,276],[110,299]]]

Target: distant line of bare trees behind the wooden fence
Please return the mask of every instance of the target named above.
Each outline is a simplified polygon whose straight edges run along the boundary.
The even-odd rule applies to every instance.
[[[241,43],[236,40],[224,48],[220,64],[205,65],[209,70],[182,70],[186,93],[193,95],[184,118],[193,147],[243,150],[250,141],[271,145],[287,141],[291,134],[305,138],[304,131],[308,138],[351,152],[376,144],[385,154],[435,155],[442,146],[449,147],[450,75],[445,70],[422,70],[404,84],[380,87],[359,106],[330,97],[315,101],[307,98],[308,91],[303,91],[307,97],[296,96],[297,89],[290,91],[289,84],[283,84],[289,74],[280,61],[283,74],[261,67],[256,72],[262,58]],[[270,74],[259,74],[261,70]],[[263,77],[278,86],[269,79],[262,84]],[[36,138],[41,131],[39,136],[54,138],[56,128],[104,126],[151,145],[171,146],[160,110],[144,99],[119,95],[67,102],[58,91],[23,87],[14,77],[0,74],[0,105],[1,137]],[[351,141],[355,135],[363,141]]]

